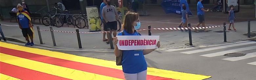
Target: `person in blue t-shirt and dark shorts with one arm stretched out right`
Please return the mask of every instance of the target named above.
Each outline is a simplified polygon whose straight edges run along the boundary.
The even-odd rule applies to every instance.
[[[199,19],[199,22],[197,23],[196,27],[199,27],[201,24],[203,27],[205,27],[204,25],[204,12],[208,12],[209,9],[204,10],[203,9],[203,4],[201,3],[203,0],[198,0],[197,2],[197,16]],[[203,29],[205,32],[209,32],[209,30]],[[199,32],[197,29],[195,29],[195,32]]]

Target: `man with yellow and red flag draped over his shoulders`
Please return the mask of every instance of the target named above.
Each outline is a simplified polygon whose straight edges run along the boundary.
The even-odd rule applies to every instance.
[[[26,46],[34,46],[33,43],[33,26],[31,23],[31,17],[28,11],[23,9],[23,6],[21,5],[17,5],[17,9],[19,10],[17,12],[17,21],[19,24],[20,29],[22,30],[22,34],[23,36],[26,38],[26,40],[28,41],[27,44],[25,44]],[[31,43],[29,41],[29,37],[31,39]]]

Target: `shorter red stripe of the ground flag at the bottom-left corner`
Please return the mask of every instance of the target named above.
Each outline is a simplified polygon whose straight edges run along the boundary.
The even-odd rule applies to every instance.
[[[0,72],[22,80],[70,80],[67,78],[30,70],[4,62],[0,62]]]

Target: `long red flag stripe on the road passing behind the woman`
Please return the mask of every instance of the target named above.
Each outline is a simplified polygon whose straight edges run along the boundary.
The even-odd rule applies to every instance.
[[[38,55],[38,54],[33,54],[33,53],[25,52],[25,51],[8,49],[8,48],[4,48],[4,47],[0,47],[0,51],[2,53],[8,54],[8,55],[13,55],[13,56],[26,58],[26,59],[30,59],[30,60],[35,60],[35,61],[39,61],[39,62],[43,62],[43,63],[67,67],[67,68],[71,68],[71,69],[75,69],[75,70],[82,70],[82,71],[86,71],[86,72],[115,77],[115,78],[119,78],[119,79],[125,79],[122,70],[101,67],[101,66],[96,66],[96,65],[91,65],[91,64],[85,64],[85,63],[80,63],[80,62],[74,62],[74,61],[69,61],[69,60],[44,56],[44,55]],[[153,75],[147,75],[147,79],[148,80],[174,80],[174,79],[163,78],[163,77],[153,76]]]

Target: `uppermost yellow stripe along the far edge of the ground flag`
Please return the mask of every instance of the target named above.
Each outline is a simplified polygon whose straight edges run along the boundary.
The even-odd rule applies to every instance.
[[[29,47],[18,46],[18,45],[4,43],[4,42],[0,42],[0,43],[2,47],[9,48],[9,49],[21,50],[21,51],[26,51],[34,54],[39,54],[39,55],[45,55],[49,57],[55,57],[55,58],[60,58],[60,59],[65,59],[65,60],[70,60],[75,62],[81,62],[86,64],[92,64],[92,65],[122,70],[122,66],[116,66],[116,62],[114,61],[77,56],[77,55],[66,54],[62,52],[55,52],[50,50],[29,48]],[[171,70],[161,70],[156,68],[148,68],[147,74],[153,75],[153,76],[165,77],[165,78],[178,79],[178,80],[203,80],[211,77],[211,76],[177,72],[177,71],[171,71]]]

